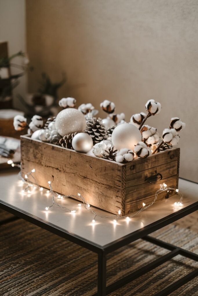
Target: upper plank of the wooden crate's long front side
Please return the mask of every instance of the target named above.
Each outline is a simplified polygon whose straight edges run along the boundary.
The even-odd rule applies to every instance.
[[[21,137],[21,156],[26,162],[31,161],[76,176],[83,176],[98,183],[123,188],[122,169],[124,165],[97,157],[78,153],[56,145]]]

